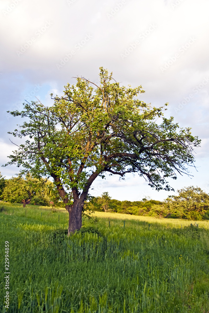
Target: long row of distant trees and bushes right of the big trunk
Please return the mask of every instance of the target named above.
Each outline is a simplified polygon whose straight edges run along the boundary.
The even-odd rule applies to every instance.
[[[178,195],[170,196],[163,202],[146,198],[142,201],[119,201],[111,199],[108,192],[103,192],[101,197],[92,197],[92,201],[87,202],[87,208],[159,218],[201,220],[209,219],[209,195],[194,186],[178,190]]]

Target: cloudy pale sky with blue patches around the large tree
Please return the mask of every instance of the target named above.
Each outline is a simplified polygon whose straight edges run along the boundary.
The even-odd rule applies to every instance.
[[[8,110],[21,110],[24,100],[52,105],[50,93],[62,95],[73,77],[97,81],[102,66],[121,85],[142,85],[144,102],[168,102],[165,117],[192,128],[202,140],[193,176],[169,182],[175,192],[193,185],[209,193],[208,12],[208,0],[1,0],[0,164],[14,150],[11,141],[17,142],[8,131],[22,122]],[[18,168],[0,171],[10,178]],[[131,173],[125,180],[97,178],[92,188],[91,195],[107,191],[130,201],[175,194],[158,192]]]

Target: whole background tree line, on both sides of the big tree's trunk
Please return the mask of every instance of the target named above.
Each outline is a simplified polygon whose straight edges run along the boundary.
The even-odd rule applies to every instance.
[[[147,215],[159,218],[186,218],[189,220],[209,219],[209,195],[199,187],[189,186],[177,190],[178,194],[165,201],[142,199],[142,201],[120,201],[112,199],[108,192],[100,197],[90,197],[86,210]],[[5,179],[0,173],[0,199],[11,203],[63,206],[53,182],[38,179],[28,173]]]

